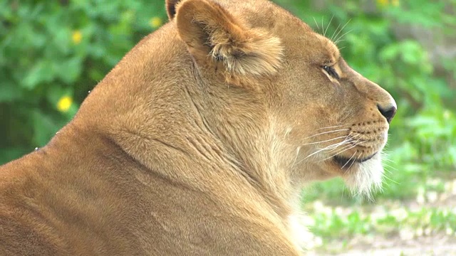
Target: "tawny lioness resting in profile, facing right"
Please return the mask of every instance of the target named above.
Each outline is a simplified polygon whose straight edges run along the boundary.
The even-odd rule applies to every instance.
[[[167,0],[47,146],[0,168],[0,255],[299,255],[304,183],[380,186],[396,105],[266,0]]]

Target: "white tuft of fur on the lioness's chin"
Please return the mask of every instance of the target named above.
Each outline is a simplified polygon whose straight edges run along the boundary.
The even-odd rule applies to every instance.
[[[343,177],[353,196],[366,196],[373,200],[372,194],[382,188],[383,166],[380,154],[358,164]]]

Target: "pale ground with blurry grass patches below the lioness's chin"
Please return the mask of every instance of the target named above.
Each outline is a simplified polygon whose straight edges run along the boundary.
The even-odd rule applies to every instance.
[[[304,191],[309,255],[456,255],[456,178],[425,178],[400,192],[366,203],[335,191],[306,202]]]

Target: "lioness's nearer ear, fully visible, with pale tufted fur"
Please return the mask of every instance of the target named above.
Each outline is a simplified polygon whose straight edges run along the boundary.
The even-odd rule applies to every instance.
[[[195,59],[221,62],[228,75],[274,74],[281,64],[279,38],[247,28],[212,1],[184,0],[175,19]]]

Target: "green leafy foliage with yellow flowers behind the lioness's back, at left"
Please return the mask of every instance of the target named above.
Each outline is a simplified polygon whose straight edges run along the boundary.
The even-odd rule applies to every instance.
[[[0,1],[0,163],[46,144],[166,19],[164,1]]]

